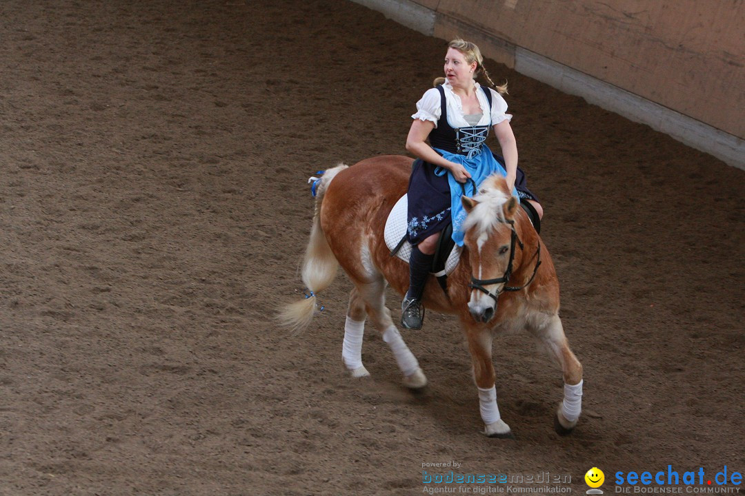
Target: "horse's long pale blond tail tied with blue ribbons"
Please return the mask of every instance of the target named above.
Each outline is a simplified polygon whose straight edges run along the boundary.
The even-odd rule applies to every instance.
[[[336,277],[339,263],[332,252],[326,234],[321,228],[321,205],[326,189],[332,179],[342,170],[348,168],[344,164],[326,170],[316,184],[316,204],[311,226],[311,236],[308,246],[305,248],[305,257],[302,260],[302,283],[308,288],[305,298],[294,303],[288,303],[279,309],[279,322],[282,326],[290,328],[293,332],[300,332],[311,323],[317,309],[316,294],[331,286]]]

